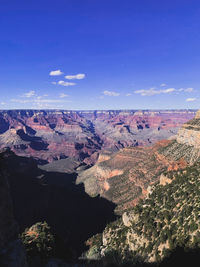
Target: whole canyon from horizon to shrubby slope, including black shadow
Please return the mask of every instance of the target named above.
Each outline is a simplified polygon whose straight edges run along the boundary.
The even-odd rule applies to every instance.
[[[169,173],[197,162],[200,124],[195,113],[1,111],[2,203],[10,203],[11,241],[46,220],[75,259],[96,233],[102,232],[109,244],[117,233],[111,238],[106,225],[121,215],[128,225],[131,210],[156,185],[171,184]],[[9,188],[2,186],[6,183]],[[8,246],[10,241],[2,242]],[[102,246],[103,253],[107,245]]]

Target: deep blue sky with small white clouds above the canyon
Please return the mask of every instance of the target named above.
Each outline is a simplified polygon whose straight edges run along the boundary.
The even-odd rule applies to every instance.
[[[199,0],[0,0],[0,109],[200,108]]]

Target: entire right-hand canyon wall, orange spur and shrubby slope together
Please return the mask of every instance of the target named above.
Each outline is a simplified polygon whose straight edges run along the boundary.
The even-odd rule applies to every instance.
[[[125,148],[100,157],[100,162],[79,174],[78,181],[83,182],[91,194],[87,183],[89,171],[94,170],[90,175],[95,175],[96,171],[92,181],[96,191],[92,193],[109,198],[105,191],[116,190],[113,202],[118,205],[116,211],[122,214],[121,218],[107,225],[102,234],[88,240],[90,248],[86,258],[105,260],[114,255],[114,265],[118,261],[128,266],[134,263],[140,266],[142,262],[177,266],[183,259],[195,265],[199,260],[199,115],[200,111],[182,126],[176,139],[163,140],[151,148],[141,147],[143,156],[140,158],[136,156],[139,148]],[[130,158],[127,150],[130,150]],[[123,155],[121,161],[118,160],[119,153]],[[131,161],[132,166],[128,167]],[[118,183],[122,173],[125,175],[115,189],[114,181]],[[126,185],[132,174],[134,182],[130,190]],[[107,183],[104,191],[102,182]],[[137,186],[141,188],[140,195],[133,190]],[[125,192],[130,192],[126,205],[129,204],[127,199],[134,199],[128,209],[123,207]],[[139,198],[143,200],[135,205]]]

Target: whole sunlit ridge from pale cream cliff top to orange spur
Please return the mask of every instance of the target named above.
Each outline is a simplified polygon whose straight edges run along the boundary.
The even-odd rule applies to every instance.
[[[80,172],[77,183],[84,183],[86,192],[117,204],[121,214],[145,198],[151,186],[170,183],[163,173],[185,168],[200,158],[200,118],[185,123],[176,139],[163,140],[150,147],[129,147],[116,153],[100,155],[90,169]]]

